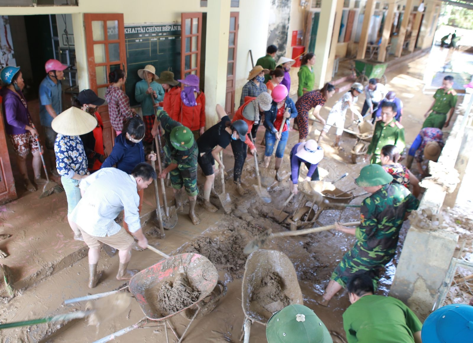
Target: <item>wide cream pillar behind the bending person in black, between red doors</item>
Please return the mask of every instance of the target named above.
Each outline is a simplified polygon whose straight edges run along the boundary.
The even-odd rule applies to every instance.
[[[205,53],[206,128],[215,125],[219,120],[215,106],[220,104],[225,107],[229,29],[230,1],[209,1]]]

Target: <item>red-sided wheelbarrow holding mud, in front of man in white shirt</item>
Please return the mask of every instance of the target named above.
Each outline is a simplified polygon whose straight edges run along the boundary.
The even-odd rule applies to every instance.
[[[184,335],[187,333],[187,330],[196,316],[203,316],[210,313],[217,306],[219,299],[227,293],[226,286],[219,281],[218,278],[219,274],[212,262],[205,256],[197,253],[183,253],[171,256],[140,271],[131,278],[128,283],[128,288],[138,301],[145,317],[140,319],[138,323],[110,334],[96,342],[112,341],[115,337],[143,327],[150,321],[163,322],[166,342],[169,342],[167,335],[168,326],[175,334],[178,342],[182,342]],[[158,290],[161,289],[166,282],[173,284],[176,280],[184,280],[183,282],[186,282],[187,286],[198,291],[200,294],[199,298],[192,304],[179,308],[177,311],[169,312],[158,305]],[[114,292],[107,293],[109,295]],[[104,293],[104,295],[107,295],[107,293]],[[84,298],[80,298],[80,300]],[[72,300],[79,301],[77,299]],[[73,301],[68,300],[66,303],[71,302]],[[190,319],[190,322],[181,337],[178,337],[167,321],[181,312]]]

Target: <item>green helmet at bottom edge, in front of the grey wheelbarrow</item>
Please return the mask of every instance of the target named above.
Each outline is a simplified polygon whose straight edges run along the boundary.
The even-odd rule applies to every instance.
[[[266,339],[268,343],[333,343],[314,311],[299,304],[284,307],[268,320]]]

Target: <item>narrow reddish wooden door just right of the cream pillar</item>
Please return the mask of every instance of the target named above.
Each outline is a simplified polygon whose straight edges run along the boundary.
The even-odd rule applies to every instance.
[[[228,33],[227,59],[227,93],[225,96],[225,112],[235,113],[235,70],[236,70],[236,42],[238,39],[238,12],[230,13],[230,30]]]

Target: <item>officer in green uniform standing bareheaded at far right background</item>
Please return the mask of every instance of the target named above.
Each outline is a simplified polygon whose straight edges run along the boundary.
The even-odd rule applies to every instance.
[[[442,87],[434,94],[434,102],[424,114],[427,119],[422,124],[422,128],[437,127],[442,129],[449,126],[450,119],[455,111],[456,98],[456,91],[453,89],[453,76],[447,75],[442,81]],[[450,111],[450,115],[447,119],[448,111]]]

